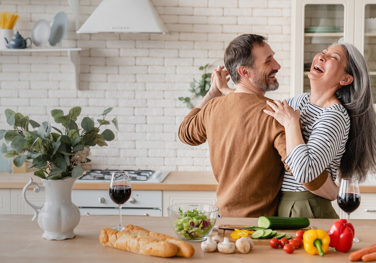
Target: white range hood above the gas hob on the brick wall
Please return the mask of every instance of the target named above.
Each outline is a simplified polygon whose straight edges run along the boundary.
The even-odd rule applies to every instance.
[[[168,33],[150,0],[103,0],[77,33]]]

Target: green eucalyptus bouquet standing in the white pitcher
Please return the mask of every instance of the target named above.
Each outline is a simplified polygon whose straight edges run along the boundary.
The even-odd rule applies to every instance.
[[[115,138],[114,133],[106,129],[99,134],[102,125],[110,124],[105,120],[112,108],[106,109],[101,115],[103,119],[97,119],[99,126],[95,127],[94,119],[85,117],[82,119],[81,128],[76,121],[81,114],[81,107],[70,109],[67,115],[59,109],[51,111],[54,121],[61,124],[61,128],[51,126],[47,121],[41,125],[13,110],[6,109],[5,116],[11,130],[0,130],[0,139],[11,142],[12,150],[7,150],[5,143],[1,146],[1,152],[8,157],[7,169],[12,172],[12,159],[15,166],[20,167],[26,160],[31,163],[28,168],[34,168],[34,175],[52,180],[60,180],[68,177],[78,178],[83,174],[81,164],[90,162],[90,146],[105,146],[106,141]],[[114,118],[111,121],[117,130],[118,122]],[[29,124],[34,130],[29,130]],[[57,132],[52,132],[52,128]]]

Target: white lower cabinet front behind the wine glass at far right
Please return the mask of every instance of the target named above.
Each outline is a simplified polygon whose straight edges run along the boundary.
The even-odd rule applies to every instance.
[[[347,214],[340,209],[340,218],[347,219]],[[376,219],[376,193],[361,193],[358,209],[350,214],[351,219]]]

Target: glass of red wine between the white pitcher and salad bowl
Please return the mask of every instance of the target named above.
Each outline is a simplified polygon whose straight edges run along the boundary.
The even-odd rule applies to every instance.
[[[118,231],[123,231],[124,227],[121,225],[121,206],[129,200],[132,189],[130,188],[130,181],[128,172],[115,171],[112,172],[110,183],[110,198],[115,204],[119,205],[119,225],[114,227]]]

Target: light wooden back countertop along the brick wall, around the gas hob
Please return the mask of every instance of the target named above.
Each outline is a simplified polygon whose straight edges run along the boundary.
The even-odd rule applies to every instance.
[[[29,177],[42,184],[40,178],[32,172],[14,174],[0,172],[0,189],[23,189]],[[370,183],[367,182],[367,184]],[[109,183],[77,180],[73,189],[108,190],[108,186]],[[217,186],[218,183],[212,172],[170,172],[162,183],[133,183],[132,190],[216,191]],[[376,193],[376,184],[361,185],[359,188],[361,193]]]

